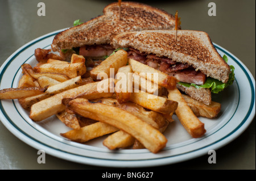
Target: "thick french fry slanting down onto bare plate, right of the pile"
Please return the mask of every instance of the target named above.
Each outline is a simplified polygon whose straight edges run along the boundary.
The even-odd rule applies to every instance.
[[[206,132],[204,123],[202,123],[193,113],[191,108],[189,108],[180,91],[178,89],[168,90],[168,99],[179,103],[175,113],[187,132],[194,138],[203,136]]]

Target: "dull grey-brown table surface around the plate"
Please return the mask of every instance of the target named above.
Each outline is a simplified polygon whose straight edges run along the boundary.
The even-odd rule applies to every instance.
[[[38,16],[39,2],[46,5],[46,16]],[[102,14],[103,0],[1,0],[0,65],[16,49],[36,37],[72,26]],[[255,1],[254,0],[180,0],[138,1],[175,14],[179,11],[183,30],[208,32],[212,41],[229,50],[251,71],[255,79]],[[216,16],[208,15],[208,3],[216,3]],[[46,155],[46,163],[37,162],[36,149],[15,137],[0,122],[0,169],[108,169]],[[255,169],[255,118],[249,128],[230,144],[216,151],[217,163],[209,164],[205,155],[172,165],[151,169]]]

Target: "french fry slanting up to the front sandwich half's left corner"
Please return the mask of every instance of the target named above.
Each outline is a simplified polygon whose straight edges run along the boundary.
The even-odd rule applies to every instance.
[[[94,81],[99,81],[100,79],[110,77],[110,69],[114,69],[114,75],[117,73],[118,69],[127,64],[127,52],[125,50],[118,50],[112,56],[106,58],[102,61],[100,65],[96,66],[90,71],[90,77]],[[97,78],[98,77],[98,78]]]

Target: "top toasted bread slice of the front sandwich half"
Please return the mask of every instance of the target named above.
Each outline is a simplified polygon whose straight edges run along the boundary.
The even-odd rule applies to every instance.
[[[230,67],[203,31],[179,30],[177,41],[175,30],[146,30],[123,32],[112,37],[114,48],[131,47],[147,54],[168,57],[176,62],[193,66],[207,77],[226,83]]]

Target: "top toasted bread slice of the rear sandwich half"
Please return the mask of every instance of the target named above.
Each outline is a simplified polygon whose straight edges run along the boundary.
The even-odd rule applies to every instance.
[[[119,32],[175,28],[173,15],[142,3],[122,2],[121,20],[118,2],[106,6],[103,12],[104,15],[58,33],[53,39],[52,50],[59,51],[82,45],[109,44],[110,35]]]

